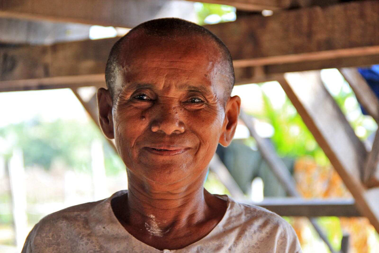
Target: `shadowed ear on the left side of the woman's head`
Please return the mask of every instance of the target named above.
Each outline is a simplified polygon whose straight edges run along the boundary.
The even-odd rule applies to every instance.
[[[108,139],[114,138],[113,132],[113,115],[112,115],[112,97],[108,90],[99,88],[97,90],[97,107],[99,109],[99,124],[103,134]]]

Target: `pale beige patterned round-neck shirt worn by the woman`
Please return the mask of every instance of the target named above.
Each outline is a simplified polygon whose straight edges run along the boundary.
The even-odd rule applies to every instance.
[[[279,215],[262,207],[241,204],[227,195],[227,210],[213,230],[179,250],[157,250],[137,240],[118,222],[111,199],[68,207],[42,218],[30,231],[22,253],[301,253],[294,229]]]

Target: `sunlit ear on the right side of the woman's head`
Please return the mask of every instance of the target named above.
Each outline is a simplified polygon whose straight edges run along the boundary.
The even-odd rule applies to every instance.
[[[225,119],[222,125],[222,132],[219,143],[227,147],[232,142],[236,131],[238,116],[240,116],[241,98],[239,96],[230,97],[225,108]]]

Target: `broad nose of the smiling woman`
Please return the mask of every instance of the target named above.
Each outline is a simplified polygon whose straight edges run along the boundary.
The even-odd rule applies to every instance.
[[[166,135],[181,134],[185,131],[185,124],[180,120],[177,108],[160,106],[155,119],[152,121],[153,132],[163,132]]]

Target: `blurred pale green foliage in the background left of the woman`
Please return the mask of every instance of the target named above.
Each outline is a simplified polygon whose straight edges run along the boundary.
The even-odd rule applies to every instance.
[[[39,166],[49,170],[59,160],[69,168],[89,171],[91,166],[91,143],[103,140],[105,167],[108,175],[125,170],[125,165],[114,153],[105,137],[92,121],[63,121],[46,123],[39,119],[9,125],[0,129],[0,138],[10,143],[6,156],[13,148],[23,151],[25,167]]]

